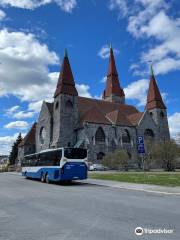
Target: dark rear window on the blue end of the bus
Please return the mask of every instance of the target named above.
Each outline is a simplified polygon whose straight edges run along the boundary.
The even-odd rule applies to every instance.
[[[68,159],[84,159],[87,157],[87,150],[82,148],[65,148],[64,157]]]

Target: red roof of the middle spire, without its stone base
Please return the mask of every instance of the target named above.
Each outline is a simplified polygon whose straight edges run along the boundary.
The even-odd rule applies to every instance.
[[[106,98],[111,95],[116,95],[119,97],[125,96],[123,89],[120,87],[112,47],[110,47],[109,68],[108,68],[108,73],[107,73],[106,88],[104,90],[103,97]]]

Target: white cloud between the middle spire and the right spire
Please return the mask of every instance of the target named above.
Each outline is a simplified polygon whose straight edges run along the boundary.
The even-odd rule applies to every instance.
[[[138,106],[144,106],[147,99],[147,90],[149,87],[149,80],[141,79],[129,84],[124,88],[126,99],[137,100]]]

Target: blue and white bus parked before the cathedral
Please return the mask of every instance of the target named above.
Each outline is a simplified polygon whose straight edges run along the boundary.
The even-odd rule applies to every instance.
[[[26,155],[22,175],[42,182],[71,181],[87,178],[87,150],[81,148],[48,149]]]

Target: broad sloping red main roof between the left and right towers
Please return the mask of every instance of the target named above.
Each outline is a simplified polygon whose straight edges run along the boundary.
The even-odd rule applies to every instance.
[[[140,113],[134,106],[78,97],[78,110],[81,116],[80,123],[102,123],[133,126],[128,116]]]

